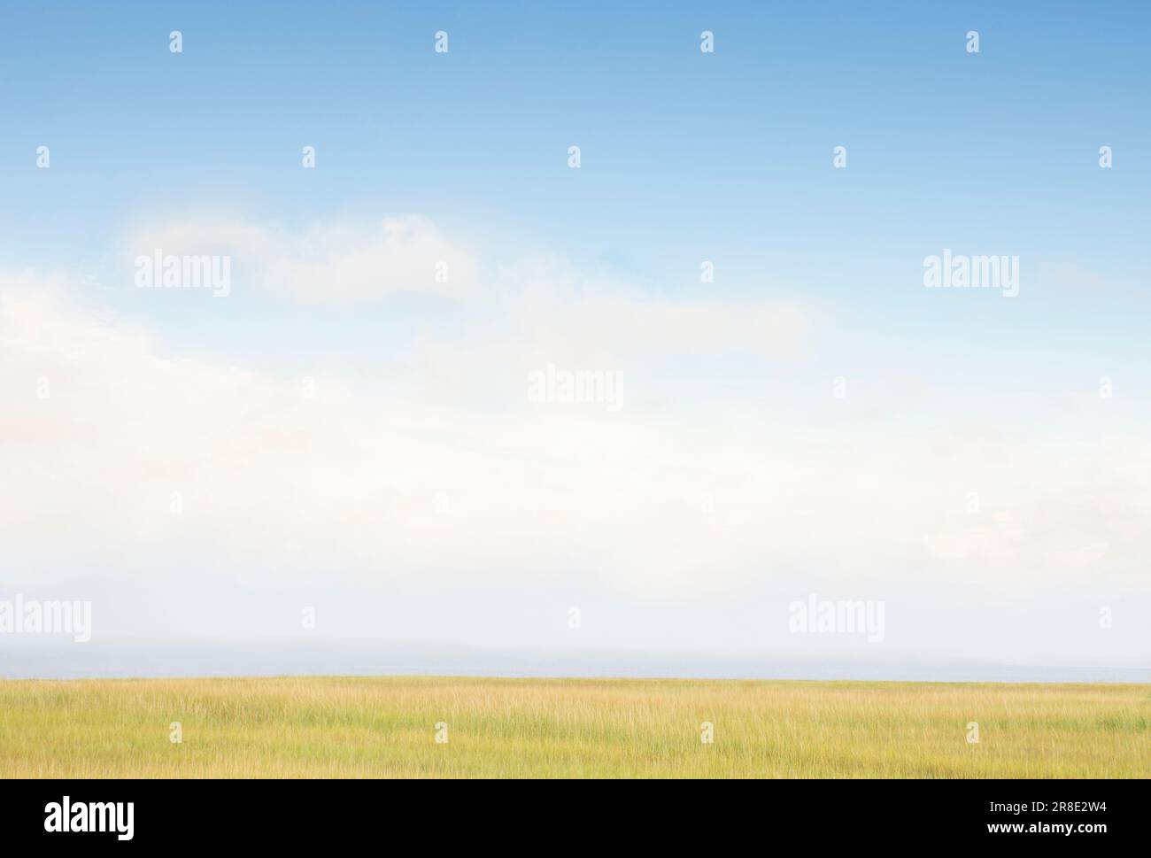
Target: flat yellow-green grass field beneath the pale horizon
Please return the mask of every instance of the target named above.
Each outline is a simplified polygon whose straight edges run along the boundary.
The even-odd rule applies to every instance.
[[[1149,777],[1151,686],[0,682],[0,777],[132,776]]]

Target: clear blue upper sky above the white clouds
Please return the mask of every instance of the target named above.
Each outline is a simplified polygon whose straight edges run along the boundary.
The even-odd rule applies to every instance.
[[[965,319],[993,336],[998,318],[940,317],[908,297],[925,253],[1017,253],[1032,290],[1041,265],[1146,282],[1149,15],[9,6],[0,248],[17,265],[87,274],[113,264],[129,227],[188,212],[285,225],[419,212],[494,264],[543,249],[677,294],[706,258],[727,291],[818,296],[869,324],[901,316],[929,339]],[[167,50],[171,29],[183,54]],[[439,29],[449,54],[429,47]],[[703,29],[714,54],[698,50]],[[963,50],[968,29],[978,55]],[[565,168],[573,144],[578,174]],[[32,168],[38,145],[51,172]],[[319,169],[299,168],[302,145]],[[829,168],[834,145],[848,169]],[[1078,306],[1059,318],[1105,344],[1136,341],[1133,307],[1103,304],[1099,336]],[[1017,340],[1014,324],[1000,333]]]

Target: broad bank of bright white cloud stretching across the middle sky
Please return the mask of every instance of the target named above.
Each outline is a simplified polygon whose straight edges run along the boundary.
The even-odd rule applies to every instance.
[[[975,603],[989,589],[1019,599],[1151,584],[1151,445],[1137,422],[1068,449],[877,422],[882,401],[853,411],[830,386],[817,407],[788,401],[754,367],[762,395],[680,389],[662,356],[793,355],[807,317],[539,283],[523,295],[503,327],[453,336],[455,348],[425,341],[430,359],[396,384],[320,374],[310,398],[297,377],[162,357],[59,284],[0,284],[8,580],[43,586],[78,570],[112,593],[168,600],[223,576],[733,605],[764,587],[883,598],[958,586]],[[527,371],[557,356],[624,366],[626,407],[528,402]],[[965,415],[981,418],[993,425]]]

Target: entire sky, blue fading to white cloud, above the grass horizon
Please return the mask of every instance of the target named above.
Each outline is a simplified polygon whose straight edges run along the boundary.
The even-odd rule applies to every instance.
[[[1146,681],[1149,31],[5,5],[0,675]]]

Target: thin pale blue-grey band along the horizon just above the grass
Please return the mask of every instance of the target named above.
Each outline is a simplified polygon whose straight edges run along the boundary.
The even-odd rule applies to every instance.
[[[0,677],[10,679],[303,675],[1151,683],[1151,667],[1133,666],[796,661],[770,654],[495,650],[298,638],[241,644],[0,639]]]

